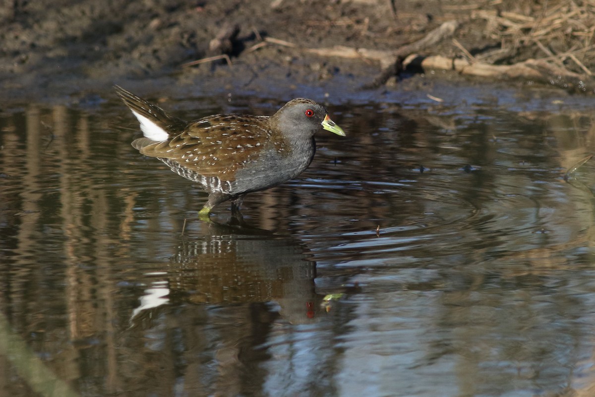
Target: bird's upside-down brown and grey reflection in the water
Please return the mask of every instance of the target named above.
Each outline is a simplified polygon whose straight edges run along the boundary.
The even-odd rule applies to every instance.
[[[290,236],[250,227],[241,214],[227,224],[201,222],[186,233],[167,265],[167,283],[140,298],[133,317],[167,302],[237,305],[277,302],[292,324],[315,321],[323,297],[315,293],[315,262]]]

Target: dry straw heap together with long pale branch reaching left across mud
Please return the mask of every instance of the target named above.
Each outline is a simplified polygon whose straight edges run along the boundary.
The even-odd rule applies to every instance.
[[[381,72],[365,88],[384,85],[405,71],[439,69],[595,92],[595,1],[492,0],[444,5],[442,11],[439,26],[399,48],[300,48],[297,43],[265,37],[249,51],[281,45],[321,57],[378,62]],[[394,12],[392,17],[399,20],[399,10]],[[473,40],[477,32],[482,37]]]

